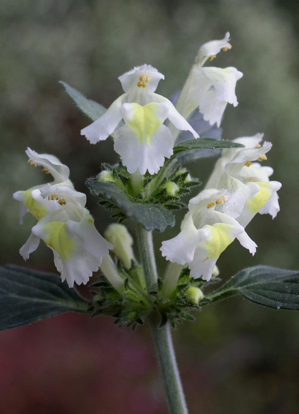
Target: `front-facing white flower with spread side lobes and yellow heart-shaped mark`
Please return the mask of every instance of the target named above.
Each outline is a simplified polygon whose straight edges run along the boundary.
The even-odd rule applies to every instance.
[[[151,65],[134,67],[120,76],[124,94],[119,96],[99,119],[81,130],[91,144],[106,140],[113,133],[114,149],[129,173],[137,169],[155,174],[164,159],[173,154],[174,139],[163,125],[168,118],[179,130],[199,135],[164,96],[155,94],[164,75]],[[121,120],[124,125],[117,128]]]

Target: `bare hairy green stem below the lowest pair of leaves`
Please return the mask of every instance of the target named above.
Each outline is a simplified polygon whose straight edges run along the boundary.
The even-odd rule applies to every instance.
[[[155,315],[151,318],[151,331],[155,344],[155,351],[163,378],[170,414],[188,414],[187,404],[182,388],[175,350],[172,344],[170,325],[158,328]]]

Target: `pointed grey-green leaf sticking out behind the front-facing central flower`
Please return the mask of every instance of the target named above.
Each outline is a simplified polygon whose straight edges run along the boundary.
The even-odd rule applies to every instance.
[[[87,99],[84,95],[81,94],[81,92],[77,91],[75,88],[72,88],[66,82],[60,81],[59,83],[62,84],[62,86],[65,88],[66,93],[76,103],[77,108],[79,108],[80,111],[82,111],[93,121],[100,118],[100,116],[102,116],[107,111],[105,106],[100,105],[91,99]]]

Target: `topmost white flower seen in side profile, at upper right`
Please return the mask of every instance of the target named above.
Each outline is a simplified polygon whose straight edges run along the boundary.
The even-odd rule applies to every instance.
[[[178,110],[185,118],[198,107],[204,120],[210,125],[217,123],[219,127],[227,103],[238,105],[235,88],[243,73],[235,67],[202,67],[207,59],[213,60],[221,49],[232,47],[228,43],[229,37],[227,32],[224,39],[210,41],[199,49],[196,63],[191,67],[177,103]]]

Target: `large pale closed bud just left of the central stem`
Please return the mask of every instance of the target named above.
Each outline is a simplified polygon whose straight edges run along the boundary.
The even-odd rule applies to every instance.
[[[115,247],[112,253],[120,259],[126,269],[131,268],[134,253],[132,249],[133,239],[127,227],[123,224],[110,224],[104,233],[105,239],[110,241]]]

